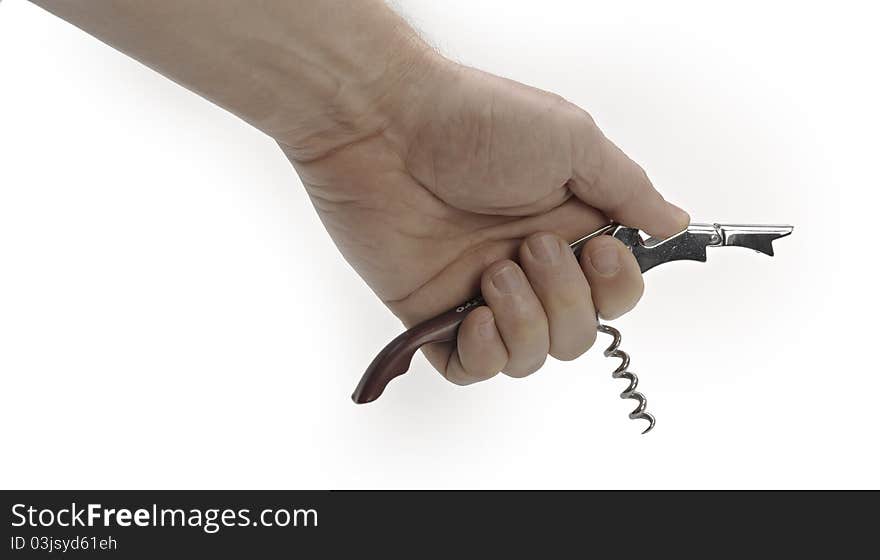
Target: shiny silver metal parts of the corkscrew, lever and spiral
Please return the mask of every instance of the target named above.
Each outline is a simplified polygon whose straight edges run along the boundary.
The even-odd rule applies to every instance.
[[[585,235],[569,246],[575,255],[579,256],[584,244],[590,239],[599,235],[611,235],[632,251],[639,268],[642,272],[646,272],[657,265],[672,261],[706,262],[708,247],[745,247],[772,257],[773,241],[791,235],[792,231],[794,227],[784,225],[691,224],[684,231],[668,239],[654,237],[644,239],[638,229],[611,223]],[[656,420],[652,414],[645,412],[648,405],[645,395],[636,391],[639,378],[636,374],[627,371],[629,355],[620,350],[620,331],[602,324],[598,326],[598,330],[611,335],[614,339],[611,346],[605,350],[605,356],[620,358],[621,363],[611,375],[615,379],[629,380],[629,387],[620,394],[620,398],[638,401],[639,405],[629,417],[633,420],[647,420],[648,427],[642,432],[646,434],[654,427]]]

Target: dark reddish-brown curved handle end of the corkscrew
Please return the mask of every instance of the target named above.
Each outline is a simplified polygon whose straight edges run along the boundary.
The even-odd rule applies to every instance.
[[[361,382],[351,395],[352,400],[364,404],[378,399],[392,379],[409,370],[412,357],[419,348],[425,344],[455,340],[458,326],[464,318],[483,304],[483,298],[474,298],[455,309],[419,323],[392,340],[364,372]]]

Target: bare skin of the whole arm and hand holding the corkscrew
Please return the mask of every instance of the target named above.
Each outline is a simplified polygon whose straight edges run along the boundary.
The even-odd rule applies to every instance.
[[[637,303],[620,242],[593,239],[578,262],[568,240],[609,219],[656,236],[689,221],[584,110],[444,59],[383,2],[36,3],[275,138],[406,325],[482,291],[457,342],[424,350],[454,383],[574,359],[597,314]]]

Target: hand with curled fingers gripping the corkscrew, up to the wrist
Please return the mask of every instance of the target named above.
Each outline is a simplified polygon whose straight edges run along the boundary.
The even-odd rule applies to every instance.
[[[381,126],[308,158],[282,148],[343,255],[404,323],[482,291],[488,305],[457,344],[424,349],[447,379],[576,358],[595,340],[596,312],[629,311],[643,284],[617,240],[590,241],[580,262],[568,241],[608,218],[668,236],[687,214],[559,96],[432,53],[418,64],[416,86],[389,92],[397,112],[357,119]]]

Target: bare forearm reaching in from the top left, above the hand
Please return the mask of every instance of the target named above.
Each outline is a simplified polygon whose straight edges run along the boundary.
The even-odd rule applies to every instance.
[[[406,94],[433,58],[381,0],[34,3],[302,159],[386,129],[400,104],[394,96]]]

